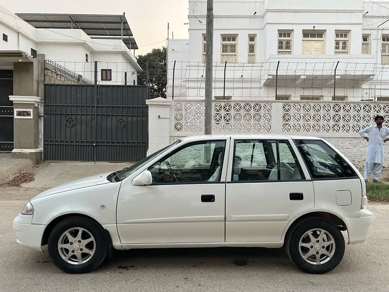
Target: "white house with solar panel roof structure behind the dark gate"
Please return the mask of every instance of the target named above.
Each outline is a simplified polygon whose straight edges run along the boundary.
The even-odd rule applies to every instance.
[[[2,52],[45,54],[68,70],[99,84],[137,84],[138,49],[124,15],[14,14],[0,6],[0,70],[14,59]],[[134,53],[131,50],[134,50]]]

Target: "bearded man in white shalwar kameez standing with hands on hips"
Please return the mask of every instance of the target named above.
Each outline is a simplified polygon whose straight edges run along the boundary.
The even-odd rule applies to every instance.
[[[389,128],[383,127],[383,116],[374,118],[376,125],[372,125],[359,132],[359,135],[369,142],[368,153],[366,154],[366,164],[364,179],[369,180],[371,172],[373,173],[373,183],[378,183],[384,163],[384,143],[389,141],[386,138],[389,135]]]

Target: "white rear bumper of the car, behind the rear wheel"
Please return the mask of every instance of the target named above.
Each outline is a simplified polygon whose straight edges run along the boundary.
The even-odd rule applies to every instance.
[[[360,243],[368,237],[368,231],[373,222],[373,214],[367,209],[361,209],[361,216],[345,218],[349,234],[349,244]]]

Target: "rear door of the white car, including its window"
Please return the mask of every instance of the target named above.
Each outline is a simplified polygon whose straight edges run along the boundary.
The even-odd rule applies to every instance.
[[[226,242],[280,242],[295,215],[314,207],[314,190],[289,140],[231,141]]]

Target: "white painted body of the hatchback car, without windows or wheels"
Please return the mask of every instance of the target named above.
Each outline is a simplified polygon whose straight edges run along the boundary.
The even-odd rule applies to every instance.
[[[354,166],[359,179],[312,181],[300,153],[291,143],[306,181],[230,182],[234,139],[292,141],[307,138],[320,140],[279,135],[184,138],[179,144],[142,164],[121,182],[111,183],[106,180],[107,174],[102,174],[63,184],[39,194],[31,200],[34,216],[18,215],[14,219],[18,243],[42,250],[42,236],[50,222],[63,215],[82,214],[96,220],[108,231],[116,249],[280,247],[291,224],[311,212],[326,212],[337,216],[347,226],[349,243],[364,241],[372,222],[372,214],[360,207],[365,184]],[[221,183],[132,184],[134,178],[171,151],[191,142],[205,140],[226,141]],[[352,192],[352,203],[338,205],[336,190],[345,189]],[[286,194],[290,192],[303,192],[304,201],[285,201]],[[215,201],[201,202],[202,194],[215,195]]]

